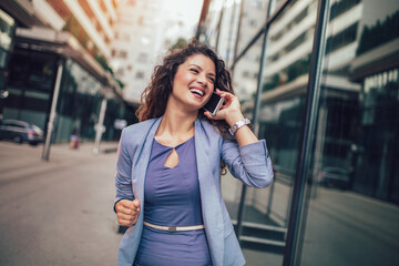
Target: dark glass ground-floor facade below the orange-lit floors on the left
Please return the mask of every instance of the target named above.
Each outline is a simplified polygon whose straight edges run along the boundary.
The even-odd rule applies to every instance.
[[[102,140],[119,140],[121,129],[114,126],[115,120],[132,121],[131,117],[125,117],[123,100],[115,94],[108,96],[104,92],[106,85],[101,79],[90,73],[72,57],[52,52],[43,44],[37,47],[40,49],[16,38],[8,69],[9,95],[2,109],[3,119],[27,121],[47,131],[58,64],[62,64],[52,141],[69,142],[73,131],[79,133],[82,141],[94,141],[103,99],[106,99],[108,108]]]

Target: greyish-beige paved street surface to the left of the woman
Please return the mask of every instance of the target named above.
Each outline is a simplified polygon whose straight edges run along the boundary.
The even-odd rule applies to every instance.
[[[0,265],[116,265],[116,153],[92,146],[0,142]]]

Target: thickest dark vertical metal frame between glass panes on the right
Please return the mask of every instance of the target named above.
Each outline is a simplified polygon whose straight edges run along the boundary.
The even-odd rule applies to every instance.
[[[309,174],[314,151],[314,133],[317,129],[318,106],[320,99],[321,66],[326,49],[326,29],[329,17],[329,0],[318,0],[317,19],[314,35],[314,45],[310,59],[309,80],[306,92],[305,120],[301,133],[301,143],[294,181],[291,208],[288,222],[284,266],[300,265],[301,239],[308,212],[310,190],[306,181]]]

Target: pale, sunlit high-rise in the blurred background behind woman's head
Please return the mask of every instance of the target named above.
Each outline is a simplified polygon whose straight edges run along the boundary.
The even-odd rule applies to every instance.
[[[165,0],[117,2],[112,66],[125,85],[123,91],[127,101],[140,102],[155,64],[178,38],[187,40],[195,35],[195,17],[200,16],[201,7],[193,13],[192,8],[182,9],[187,4]]]

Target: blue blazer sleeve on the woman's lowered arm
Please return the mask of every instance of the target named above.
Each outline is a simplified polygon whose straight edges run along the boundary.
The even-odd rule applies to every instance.
[[[125,129],[122,131],[121,140],[117,145],[115,188],[116,196],[114,201],[114,211],[115,204],[121,200],[134,200],[132,188],[132,158],[127,151]]]

